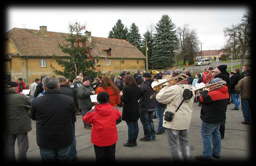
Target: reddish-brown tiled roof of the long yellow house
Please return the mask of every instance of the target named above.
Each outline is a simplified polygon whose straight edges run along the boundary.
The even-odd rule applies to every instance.
[[[64,44],[62,35],[68,34],[47,31],[47,36],[44,36],[40,30],[13,28],[4,37],[13,42],[21,56],[52,56],[53,53],[57,56],[69,56],[58,47],[58,42],[60,45]],[[95,43],[92,56],[105,56],[100,50],[107,47],[112,49],[108,58],[146,59],[137,47],[126,40],[92,36],[92,41]]]

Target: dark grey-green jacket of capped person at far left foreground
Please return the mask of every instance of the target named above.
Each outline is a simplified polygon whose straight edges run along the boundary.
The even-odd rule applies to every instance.
[[[28,111],[32,99],[15,90],[6,90],[4,95],[5,133],[24,134],[32,130]]]

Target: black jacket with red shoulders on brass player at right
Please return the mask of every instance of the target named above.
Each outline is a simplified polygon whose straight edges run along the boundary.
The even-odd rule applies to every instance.
[[[210,92],[204,90],[199,99],[203,104],[200,115],[202,121],[206,123],[220,123],[225,121],[229,102],[227,86]]]

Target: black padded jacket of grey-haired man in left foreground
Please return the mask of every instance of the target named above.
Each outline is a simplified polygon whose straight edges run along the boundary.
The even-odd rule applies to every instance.
[[[36,143],[45,149],[62,148],[72,144],[72,116],[75,102],[57,89],[46,90],[44,96],[33,99],[30,117],[36,120]]]

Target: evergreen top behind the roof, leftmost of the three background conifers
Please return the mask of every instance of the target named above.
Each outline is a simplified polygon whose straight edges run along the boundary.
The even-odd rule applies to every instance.
[[[127,40],[128,29],[124,27],[121,19],[118,19],[116,25],[108,33],[108,38],[118,38]]]

